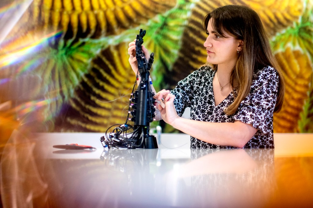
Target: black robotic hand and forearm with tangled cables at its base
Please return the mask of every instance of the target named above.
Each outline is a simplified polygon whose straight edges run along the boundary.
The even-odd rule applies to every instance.
[[[150,58],[147,59],[142,51],[143,37],[146,34],[146,30],[140,29],[139,34],[136,35],[136,58],[138,63],[138,73],[140,73],[141,81],[138,84],[137,90],[133,92],[129,99],[129,109],[125,124],[115,124],[113,131],[108,134],[108,130],[105,132],[105,136],[100,138],[103,147],[124,147],[129,149],[145,148],[155,149],[158,148],[156,137],[149,135],[150,123],[156,116],[156,107],[154,103],[154,93],[151,90],[151,79],[149,80],[149,70],[151,69],[154,61],[154,53],[150,54]],[[138,77],[138,76],[137,76]],[[137,81],[137,80],[136,80]],[[132,117],[129,118],[129,115]],[[134,122],[134,126],[127,124],[131,120]]]

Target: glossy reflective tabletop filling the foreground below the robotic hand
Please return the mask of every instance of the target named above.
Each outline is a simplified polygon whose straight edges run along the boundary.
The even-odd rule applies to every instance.
[[[15,132],[1,159],[4,207],[273,207],[313,202],[312,157],[274,149],[53,150]],[[51,149],[48,149],[51,150]],[[60,152],[61,151],[61,152]],[[100,153],[101,153],[100,152]],[[182,151],[183,152],[183,151]],[[166,157],[164,156],[166,155]]]

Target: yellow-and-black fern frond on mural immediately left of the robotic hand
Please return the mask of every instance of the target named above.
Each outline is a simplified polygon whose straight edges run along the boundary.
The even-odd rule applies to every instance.
[[[62,115],[65,122],[60,131],[76,126],[75,131],[104,132],[113,123],[125,123],[135,84],[128,59],[124,58],[127,48],[128,43],[110,46],[92,59],[89,73],[69,100],[69,113]]]

